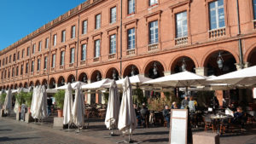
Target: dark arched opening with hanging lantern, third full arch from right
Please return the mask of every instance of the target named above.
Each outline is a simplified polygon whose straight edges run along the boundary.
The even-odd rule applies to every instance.
[[[164,76],[164,66],[159,61],[151,61],[145,67],[145,76],[148,78],[160,78]]]

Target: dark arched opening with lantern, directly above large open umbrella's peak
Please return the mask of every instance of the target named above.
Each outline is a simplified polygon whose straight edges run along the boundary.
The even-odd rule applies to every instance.
[[[195,72],[195,62],[188,56],[180,56],[176,60],[174,60],[171,64],[171,72]]]

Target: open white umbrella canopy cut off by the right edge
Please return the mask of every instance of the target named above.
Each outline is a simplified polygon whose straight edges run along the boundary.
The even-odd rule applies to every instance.
[[[256,84],[256,66],[244,68],[236,72],[230,72],[216,78],[208,79],[212,82],[225,83],[231,85],[251,86]]]

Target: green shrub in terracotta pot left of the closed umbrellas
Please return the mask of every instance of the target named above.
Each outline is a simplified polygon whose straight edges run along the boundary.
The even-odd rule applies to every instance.
[[[55,95],[55,105],[58,111],[58,117],[63,116],[63,107],[64,107],[64,98],[65,98],[65,91],[60,90]]]

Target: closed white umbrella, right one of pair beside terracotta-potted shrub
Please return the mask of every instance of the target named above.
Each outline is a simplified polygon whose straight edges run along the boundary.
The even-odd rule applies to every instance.
[[[73,123],[79,126],[84,125],[84,95],[81,92],[81,84],[78,84],[75,91],[75,99],[72,108]],[[79,129],[78,129],[79,130]]]

